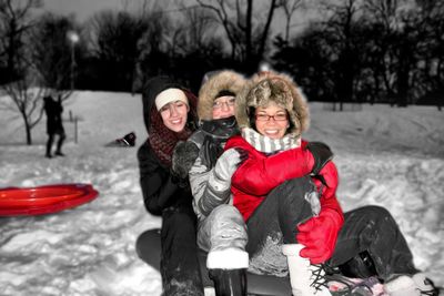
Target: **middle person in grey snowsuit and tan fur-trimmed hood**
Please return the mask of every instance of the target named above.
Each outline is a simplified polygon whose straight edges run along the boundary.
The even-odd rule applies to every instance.
[[[199,217],[198,245],[209,252],[206,267],[218,296],[246,295],[246,229],[239,211],[229,205],[230,177],[241,155],[233,151],[220,157],[226,140],[239,134],[234,103],[244,83],[245,79],[232,70],[205,78],[199,91],[200,129],[173,154],[173,171],[190,177]],[[228,159],[230,166],[225,165]]]

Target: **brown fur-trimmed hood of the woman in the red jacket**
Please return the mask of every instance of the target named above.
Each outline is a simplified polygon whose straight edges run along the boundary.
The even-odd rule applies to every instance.
[[[268,96],[271,89],[280,95]],[[255,74],[238,95],[235,118],[239,127],[254,127],[250,110],[266,105],[270,100],[289,112],[291,123],[289,133],[294,133],[299,137],[309,129],[309,105],[302,91],[289,75],[271,71]]]

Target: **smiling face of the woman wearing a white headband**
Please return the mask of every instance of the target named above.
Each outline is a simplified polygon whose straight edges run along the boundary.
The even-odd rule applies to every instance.
[[[159,110],[163,124],[176,133],[185,127],[188,111],[189,106],[183,101],[168,103]]]

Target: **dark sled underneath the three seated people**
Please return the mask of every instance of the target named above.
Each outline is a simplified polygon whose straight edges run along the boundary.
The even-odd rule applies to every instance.
[[[150,229],[141,235],[138,239],[138,255],[158,272],[160,271],[161,245],[160,229]],[[142,243],[143,242],[143,245]],[[202,282],[205,287],[213,286],[212,280],[208,276],[205,267],[206,253],[201,251],[199,254],[201,265]],[[292,295],[289,277],[278,277],[273,275],[256,275],[248,273],[248,294],[250,296],[289,296]]]

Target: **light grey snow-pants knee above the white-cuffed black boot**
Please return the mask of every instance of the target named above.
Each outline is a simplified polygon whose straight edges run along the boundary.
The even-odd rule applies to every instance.
[[[222,204],[199,224],[198,245],[203,251],[230,247],[245,249],[246,226],[241,213],[232,205]]]

